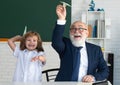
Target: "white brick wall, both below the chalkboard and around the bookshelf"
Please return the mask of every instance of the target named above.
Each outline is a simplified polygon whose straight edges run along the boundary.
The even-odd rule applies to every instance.
[[[90,0],[84,0],[87,4]],[[105,9],[106,17],[111,19],[111,39],[106,41],[107,49],[114,53],[114,85],[120,83],[120,1],[119,0],[94,0],[96,8]],[[79,19],[83,0],[72,0],[72,22]],[[50,42],[45,42],[44,45],[47,51],[47,65],[43,69],[50,67],[58,67],[59,59],[56,52],[51,48]],[[49,49],[49,50],[48,50]],[[51,54],[53,53],[53,54]],[[51,56],[50,56],[51,55]],[[55,60],[54,60],[55,59]],[[6,42],[0,42],[0,82],[10,82],[15,68],[16,59],[12,56],[12,51],[9,49]]]

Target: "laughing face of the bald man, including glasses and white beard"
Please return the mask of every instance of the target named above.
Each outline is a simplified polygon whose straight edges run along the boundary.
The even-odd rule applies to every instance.
[[[74,22],[70,27],[70,39],[76,47],[81,46],[88,36],[88,28],[82,22]]]

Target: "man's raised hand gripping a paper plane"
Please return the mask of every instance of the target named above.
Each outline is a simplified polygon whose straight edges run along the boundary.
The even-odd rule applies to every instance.
[[[63,5],[58,5],[56,7],[56,14],[59,20],[65,20],[66,19],[66,7]]]

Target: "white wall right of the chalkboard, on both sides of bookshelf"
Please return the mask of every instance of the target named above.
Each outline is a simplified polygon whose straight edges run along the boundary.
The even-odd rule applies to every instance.
[[[106,18],[111,19],[111,39],[106,40],[106,48],[114,53],[114,85],[120,83],[120,1],[94,0],[95,9],[104,8]],[[72,22],[80,19],[81,10],[88,6],[90,0],[72,0]]]

